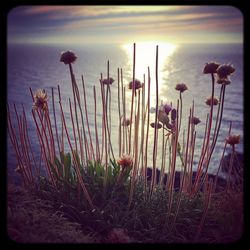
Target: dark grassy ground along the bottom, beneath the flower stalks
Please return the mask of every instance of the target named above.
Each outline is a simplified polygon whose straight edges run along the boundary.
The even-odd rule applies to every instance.
[[[174,212],[166,214],[168,193],[158,187],[151,200],[145,201],[143,189],[143,183],[137,183],[129,210],[128,192],[124,192],[123,196],[103,200],[91,211],[77,197],[68,199],[45,179],[39,190],[12,187],[8,234],[18,242],[71,243],[230,243],[242,236],[242,193],[214,194],[199,238],[195,239],[204,210],[202,193],[192,199],[183,197],[173,226]],[[178,196],[174,192],[173,211]],[[116,240],[110,238],[112,230],[117,229],[122,235]]]

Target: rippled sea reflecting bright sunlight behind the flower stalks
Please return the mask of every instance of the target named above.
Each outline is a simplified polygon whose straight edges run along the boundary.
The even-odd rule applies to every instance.
[[[151,107],[155,104],[155,47],[140,47],[136,45],[136,75],[135,77],[143,81],[143,74],[147,79],[147,66],[151,72]],[[241,44],[183,44],[175,47],[159,44],[159,100],[168,103],[172,102],[176,106],[179,93],[175,90],[177,83],[185,83],[188,90],[183,93],[183,120],[182,127],[187,127],[187,114],[194,101],[195,116],[199,117],[201,123],[196,126],[197,139],[194,155],[194,167],[197,164],[199,152],[205,128],[206,115],[209,107],[205,104],[207,97],[211,95],[211,76],[202,73],[206,62],[216,61],[218,63],[232,63],[236,68],[231,76],[232,83],[226,87],[224,114],[221,130],[214,154],[211,159],[209,172],[217,171],[220,157],[222,154],[225,137],[228,134],[229,123],[232,121],[232,133],[241,135],[241,142],[236,146],[238,152],[243,152],[243,45]],[[84,77],[89,120],[91,132],[94,136],[94,102],[93,86],[96,86],[98,119],[101,118],[101,99],[100,83],[101,73],[107,77],[107,61],[110,65],[110,77],[115,79],[112,84],[112,144],[115,154],[118,155],[118,112],[117,112],[117,68],[122,68],[124,84],[132,80],[132,48],[133,44],[126,46],[118,45],[14,45],[8,46],[7,61],[7,102],[11,108],[11,115],[14,117],[13,103],[16,104],[18,111],[21,112],[22,105],[25,108],[31,143],[35,152],[39,152],[39,142],[35,132],[35,125],[31,115],[32,98],[29,87],[33,91],[41,88],[45,89],[49,95],[51,109],[51,88],[56,94],[56,111],[59,115],[59,105],[57,98],[57,85],[60,85],[63,97],[63,107],[65,117],[69,124],[72,135],[72,127],[69,113],[69,98],[73,100],[71,93],[70,74],[67,65],[60,62],[62,51],[72,50],[78,56],[73,64],[73,69],[79,89],[81,87],[81,75]],[[147,83],[147,81],[146,81]],[[215,86],[215,95],[219,96],[220,85]],[[126,90],[127,104],[129,104],[131,92]],[[127,106],[129,110],[129,105]],[[216,112],[215,112],[216,113]],[[154,116],[152,114],[152,121]],[[60,127],[60,125],[59,125]],[[98,122],[99,136],[101,123]],[[161,139],[162,133],[159,132]],[[152,166],[153,152],[153,129],[149,135],[149,166]],[[160,151],[159,145],[159,151]],[[227,149],[227,153],[230,148]],[[160,168],[161,158],[158,153],[157,165]],[[7,167],[10,178],[17,178],[14,169],[17,166],[15,153],[7,135]]]

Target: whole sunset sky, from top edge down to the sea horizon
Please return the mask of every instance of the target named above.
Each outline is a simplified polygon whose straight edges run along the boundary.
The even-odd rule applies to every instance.
[[[19,6],[7,26],[8,43],[243,42],[243,16],[232,6]]]

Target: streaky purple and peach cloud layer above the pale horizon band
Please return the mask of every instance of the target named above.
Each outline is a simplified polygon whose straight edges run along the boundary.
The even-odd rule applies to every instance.
[[[180,36],[222,32],[240,34],[242,15],[230,6],[31,6],[16,8],[8,22],[9,35],[43,37]],[[150,33],[150,34],[149,34]]]

